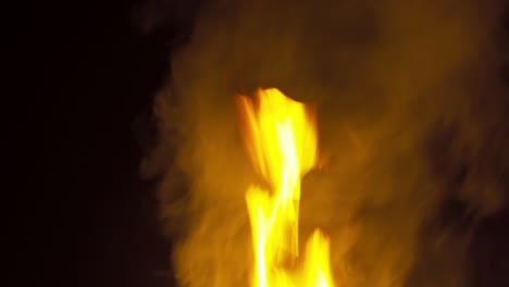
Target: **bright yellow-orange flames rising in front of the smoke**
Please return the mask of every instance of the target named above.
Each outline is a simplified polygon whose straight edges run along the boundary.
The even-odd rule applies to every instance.
[[[316,163],[314,118],[303,103],[277,89],[258,90],[257,103],[239,98],[245,140],[268,188],[246,194],[254,255],[252,287],[332,287],[328,238],[315,230],[299,259],[300,179]]]

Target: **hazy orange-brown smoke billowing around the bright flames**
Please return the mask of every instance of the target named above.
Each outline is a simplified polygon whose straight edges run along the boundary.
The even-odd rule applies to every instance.
[[[234,96],[277,87],[318,111],[302,242],[331,236],[337,286],[468,286],[477,223],[509,171],[495,1],[214,1],[157,95],[161,219],[182,286],[247,286],[257,180]],[[160,15],[158,15],[158,21]],[[147,24],[148,25],[148,24]],[[506,104],[506,105],[505,105]]]

